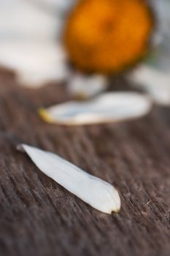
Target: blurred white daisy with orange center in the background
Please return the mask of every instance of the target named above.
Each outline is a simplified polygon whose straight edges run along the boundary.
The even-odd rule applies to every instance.
[[[154,51],[127,78],[157,102],[169,104],[170,3],[148,1],[158,20]],[[0,0],[0,64],[15,69],[20,84],[42,86],[50,80],[66,80],[72,94],[91,97],[107,87],[102,73],[129,67],[147,52],[152,16],[144,2],[112,1],[112,16],[107,0],[80,4],[78,0]],[[138,20],[133,18],[136,15]],[[69,59],[98,75],[87,77],[71,70]]]

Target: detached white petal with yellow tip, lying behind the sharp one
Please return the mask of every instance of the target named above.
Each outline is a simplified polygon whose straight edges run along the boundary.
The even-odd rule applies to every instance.
[[[133,92],[109,92],[88,102],[66,102],[39,110],[45,121],[66,125],[123,121],[147,114],[152,102]]]

